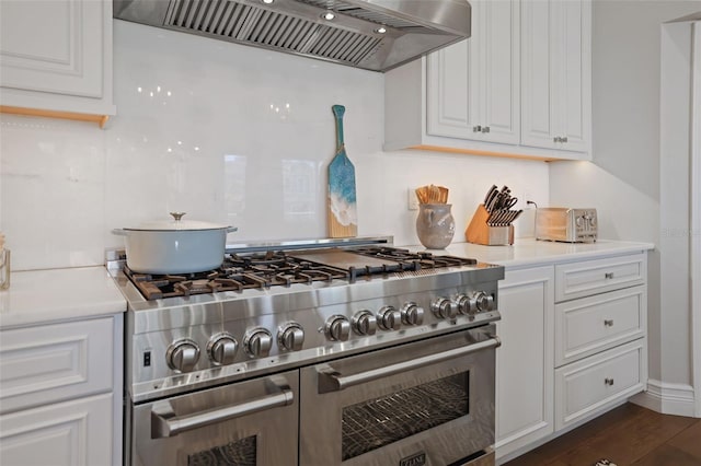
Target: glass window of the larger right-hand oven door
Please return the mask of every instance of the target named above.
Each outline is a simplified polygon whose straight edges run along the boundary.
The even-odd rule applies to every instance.
[[[464,372],[343,408],[343,461],[468,416],[469,387]]]

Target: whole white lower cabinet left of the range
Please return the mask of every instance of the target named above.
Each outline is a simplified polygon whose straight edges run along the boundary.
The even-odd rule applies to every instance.
[[[0,465],[122,464],[123,316],[0,331]]]

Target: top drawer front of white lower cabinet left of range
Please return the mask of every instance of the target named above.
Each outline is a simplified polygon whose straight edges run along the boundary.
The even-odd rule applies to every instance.
[[[0,333],[0,413],[112,392],[112,317]]]

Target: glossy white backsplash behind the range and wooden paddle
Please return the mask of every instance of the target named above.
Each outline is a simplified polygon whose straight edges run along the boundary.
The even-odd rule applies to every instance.
[[[450,188],[456,242],[492,184],[548,201],[542,162],[383,152],[381,73],[118,20],[114,44],[106,129],[0,116],[0,231],[15,270],[103,264],[123,244],[112,229],[174,210],[238,226],[231,243],[325,237],[334,104],[346,107],[359,235],[417,244],[407,193],[432,183]]]

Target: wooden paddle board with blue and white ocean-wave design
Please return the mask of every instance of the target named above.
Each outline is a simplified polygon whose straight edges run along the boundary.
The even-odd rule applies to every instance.
[[[329,236],[352,237],[358,234],[355,198],[355,167],[343,142],[343,115],[346,107],[331,107],[336,119],[336,155],[329,165]]]

